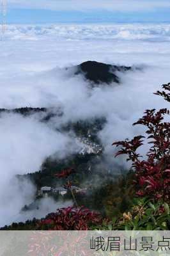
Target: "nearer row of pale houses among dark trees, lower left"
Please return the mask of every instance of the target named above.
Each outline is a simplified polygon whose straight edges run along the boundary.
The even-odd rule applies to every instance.
[[[78,188],[77,186],[72,186],[73,193],[86,193],[87,189]],[[51,187],[42,187],[38,190],[38,196],[49,196],[49,195],[61,195],[64,196],[68,193],[70,189],[66,189],[63,187],[51,188]]]

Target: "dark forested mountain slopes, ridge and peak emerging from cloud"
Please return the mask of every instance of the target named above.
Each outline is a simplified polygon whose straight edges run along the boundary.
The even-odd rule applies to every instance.
[[[82,74],[89,84],[93,84],[93,86],[96,84],[98,86],[101,83],[120,83],[119,72],[127,72],[131,70],[131,67],[109,65],[98,63],[97,61],[86,61],[74,67],[73,70],[75,70],[74,76]],[[0,109],[0,118],[1,115],[12,113],[24,117],[37,115],[39,122],[51,125],[54,124],[51,122],[53,120],[52,118],[57,122],[58,118],[64,115],[64,110],[55,107]],[[105,216],[112,216],[115,209],[116,211],[123,212],[126,206],[125,201],[128,202],[128,192],[126,193],[128,191],[128,182],[126,182],[124,175],[118,178],[117,167],[111,167],[110,163],[107,163],[105,159],[105,148],[100,141],[98,132],[102,131],[106,122],[107,118],[101,116],[98,118],[89,118],[88,120],[77,120],[77,122],[65,122],[54,128],[56,131],[63,133],[72,132],[75,138],[82,143],[82,148],[76,154],[70,154],[65,159],[56,159],[54,156],[49,156],[43,161],[40,170],[36,170],[36,172],[27,170],[27,174],[17,175],[17,179],[19,180],[31,180],[36,188],[35,199],[30,205],[23,205],[22,209],[20,209],[22,213],[34,209],[38,210],[39,200],[44,196],[41,191],[42,188],[51,188],[47,196],[53,198],[56,202],[58,200],[62,200],[63,202],[72,200],[72,194],[69,191],[66,195],[60,194],[62,192],[61,188],[65,188],[66,179],[56,179],[55,176],[67,168],[73,168],[75,170],[73,175],[70,175],[69,182],[72,182],[73,188],[75,187],[75,190],[78,191],[75,193],[77,204],[96,209]],[[58,142],[56,141],[56,143]],[[116,172],[112,172],[112,168]],[[125,170],[120,170],[120,173],[121,171],[125,173]],[[115,173],[115,175],[112,173]],[[54,189],[59,191],[59,193],[51,192]],[[79,191],[83,191],[83,193],[79,193]],[[23,227],[26,226],[24,225]]]

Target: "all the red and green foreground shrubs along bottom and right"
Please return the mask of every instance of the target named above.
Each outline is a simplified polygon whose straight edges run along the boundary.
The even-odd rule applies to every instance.
[[[170,102],[170,83],[164,84],[162,87],[166,92],[158,91],[155,94]],[[31,224],[31,228],[36,230],[169,230],[170,123],[165,121],[165,116],[169,118],[168,109],[160,109],[159,111],[147,109],[143,118],[140,118],[134,125],[144,125],[147,128],[146,134],[148,136],[146,138],[135,136],[132,140],[127,139],[113,143],[116,147],[121,147],[116,156],[127,154],[127,161],[132,161],[133,172],[130,173],[130,177],[133,177],[134,182],[130,178],[130,182],[127,182],[127,184],[125,182],[118,183],[120,184],[120,191],[117,189],[118,194],[110,190],[107,184],[107,188],[104,188],[102,192],[109,191],[109,198],[104,197],[101,193],[99,200],[102,201],[102,198],[104,198],[106,205],[116,208],[116,198],[118,201],[116,205],[119,205],[120,210],[123,209],[122,205],[126,207],[125,210],[123,209],[124,214],[121,214],[121,211],[117,211],[117,213],[112,211],[114,217],[109,221],[107,219],[102,220],[97,212],[84,207],[67,207],[58,209],[58,211],[47,215],[46,218],[40,221],[35,220]],[[137,150],[143,145],[144,138],[148,140],[151,147],[144,160],[141,160],[143,156],[140,156]],[[71,192],[72,182],[68,177],[72,173],[75,173],[75,170],[69,168],[56,174],[58,179],[65,179],[65,187],[70,189]],[[134,196],[134,184],[137,191],[135,193],[136,197]],[[129,191],[128,188],[130,188]],[[73,193],[72,196],[75,205],[77,205]],[[121,201],[119,196],[124,201]],[[132,197],[134,198],[133,204],[131,204]],[[104,202],[102,202],[102,205],[104,205]],[[111,217],[111,214],[109,215]],[[24,227],[29,227],[24,223],[16,225],[16,223],[12,225],[12,229],[19,226],[17,229],[20,230],[19,228],[22,226],[22,230],[24,230]],[[10,229],[10,227],[4,229]]]

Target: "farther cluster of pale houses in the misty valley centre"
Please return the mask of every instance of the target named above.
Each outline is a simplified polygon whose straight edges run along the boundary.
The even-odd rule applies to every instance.
[[[84,144],[80,154],[100,154],[102,153],[102,146],[89,140],[88,138],[81,138],[81,142]]]

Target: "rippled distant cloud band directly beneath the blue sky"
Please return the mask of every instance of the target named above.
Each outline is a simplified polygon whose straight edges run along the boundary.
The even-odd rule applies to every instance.
[[[114,25],[10,25],[6,31],[12,40],[170,40],[169,24],[114,24]]]

